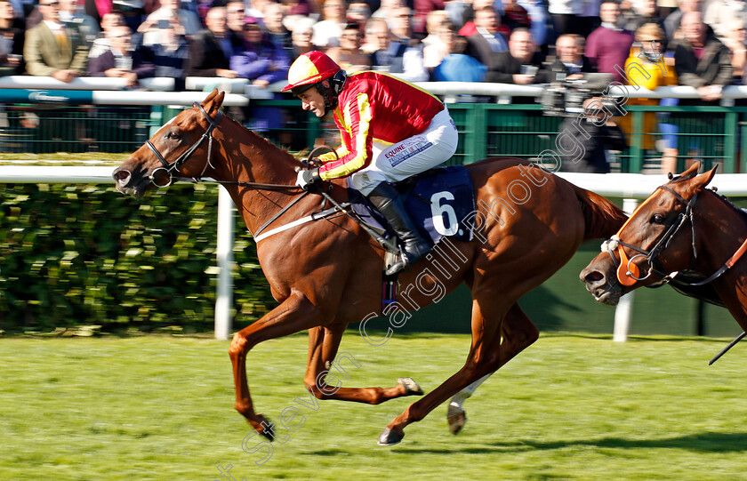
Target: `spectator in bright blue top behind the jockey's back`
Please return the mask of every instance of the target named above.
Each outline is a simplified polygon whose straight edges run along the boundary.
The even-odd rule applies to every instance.
[[[464,48],[467,41],[463,36],[458,36],[456,27],[450,20],[444,20],[438,31],[441,43],[446,47],[444,55],[438,65],[432,68],[433,80],[438,82],[482,82],[485,79],[487,68],[475,58],[465,55]],[[432,44],[429,45],[433,46]],[[463,100],[465,97],[460,98]]]

